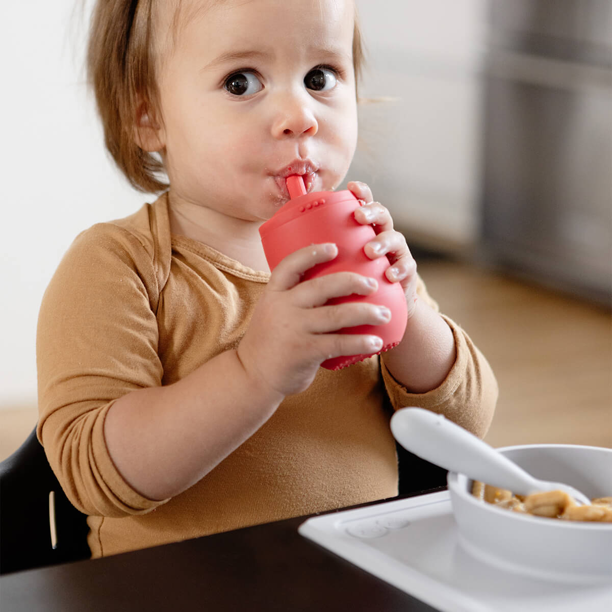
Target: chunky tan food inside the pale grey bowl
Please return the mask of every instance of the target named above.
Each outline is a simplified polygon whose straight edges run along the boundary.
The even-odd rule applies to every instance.
[[[472,495],[499,508],[532,514],[536,517],[612,523],[612,497],[594,498],[591,500],[591,505],[579,506],[565,491],[542,491],[523,496],[513,494],[506,489],[485,485],[480,480],[474,480],[472,483]]]

